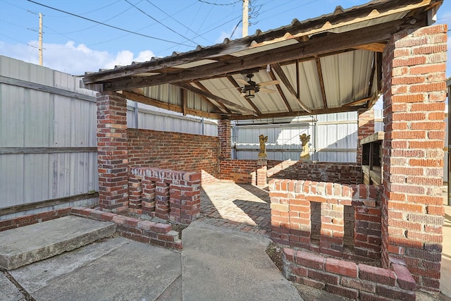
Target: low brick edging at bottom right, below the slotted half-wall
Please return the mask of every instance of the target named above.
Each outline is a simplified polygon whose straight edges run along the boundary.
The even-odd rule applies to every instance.
[[[284,276],[290,281],[357,300],[415,301],[416,283],[405,263],[390,260],[390,269],[356,264],[320,254],[283,249]]]

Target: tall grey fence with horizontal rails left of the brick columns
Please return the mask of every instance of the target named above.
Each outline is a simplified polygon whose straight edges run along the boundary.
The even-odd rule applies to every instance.
[[[14,211],[8,207],[36,212],[49,204],[57,208],[93,199],[89,192],[98,187],[97,106],[94,92],[80,89],[79,80],[0,56],[3,214]],[[52,202],[42,204],[46,200]]]

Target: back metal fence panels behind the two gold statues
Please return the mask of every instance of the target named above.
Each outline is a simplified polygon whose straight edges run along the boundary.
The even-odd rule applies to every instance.
[[[375,111],[375,130],[383,130],[383,112]],[[266,121],[267,123],[268,121]],[[357,112],[333,113],[311,117],[279,119],[269,124],[240,121],[233,125],[236,159],[256,159],[259,135],[268,136],[266,151],[270,160],[299,160],[302,145],[299,135],[310,135],[310,156],[323,162],[355,162],[357,149]]]

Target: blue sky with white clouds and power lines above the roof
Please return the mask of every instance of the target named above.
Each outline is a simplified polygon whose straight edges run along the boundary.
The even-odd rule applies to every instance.
[[[241,0],[32,1],[0,0],[0,55],[38,63],[42,13],[44,66],[73,75],[148,61],[152,56],[169,56],[173,51],[190,51],[198,44],[209,46],[226,37],[241,37]],[[366,2],[252,0],[249,35],[257,29],[289,25],[295,18],[306,20],[332,13],[338,5],[350,8]],[[449,0],[438,11],[438,23],[451,23]],[[447,76],[451,76],[450,70]]]

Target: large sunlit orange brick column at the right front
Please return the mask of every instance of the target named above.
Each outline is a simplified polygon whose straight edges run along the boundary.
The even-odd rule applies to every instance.
[[[383,53],[382,262],[404,259],[438,291],[443,224],[447,27],[398,32]]]

